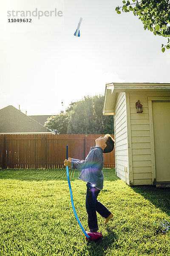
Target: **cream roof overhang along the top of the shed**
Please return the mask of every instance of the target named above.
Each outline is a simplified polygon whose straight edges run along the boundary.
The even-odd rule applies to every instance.
[[[103,115],[113,115],[116,93],[120,92],[170,92],[170,83],[111,83],[106,84]]]

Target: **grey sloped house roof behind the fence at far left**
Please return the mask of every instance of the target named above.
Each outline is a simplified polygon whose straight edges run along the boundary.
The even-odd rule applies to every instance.
[[[0,109],[0,133],[51,133],[13,106]]]

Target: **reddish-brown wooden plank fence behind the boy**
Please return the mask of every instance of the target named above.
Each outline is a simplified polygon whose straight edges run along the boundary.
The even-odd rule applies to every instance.
[[[99,136],[103,134],[0,134],[0,168],[63,168],[66,145],[68,157],[84,160]],[[114,151],[103,156],[104,167],[114,168]]]

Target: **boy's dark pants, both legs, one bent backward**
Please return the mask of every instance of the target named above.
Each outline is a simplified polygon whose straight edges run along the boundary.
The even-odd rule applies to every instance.
[[[96,232],[99,230],[97,224],[96,211],[103,217],[108,218],[111,212],[99,201],[97,201],[97,196],[99,195],[100,189],[92,186],[91,183],[87,183],[87,192],[85,198],[85,207],[88,213],[88,227],[91,232]]]

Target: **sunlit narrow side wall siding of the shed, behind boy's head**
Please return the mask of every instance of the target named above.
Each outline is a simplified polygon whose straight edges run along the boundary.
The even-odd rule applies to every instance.
[[[114,111],[115,123],[115,154],[116,154],[116,175],[122,180],[126,180],[124,167],[128,166],[127,151],[127,119],[125,93],[119,93],[116,98]],[[127,183],[129,178],[127,177]]]

